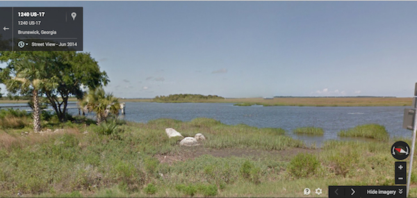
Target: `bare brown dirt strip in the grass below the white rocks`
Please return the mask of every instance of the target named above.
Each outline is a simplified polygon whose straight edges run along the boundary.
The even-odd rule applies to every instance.
[[[279,156],[282,160],[291,160],[291,158],[298,153],[316,153],[318,151],[320,151],[320,149],[288,148],[281,151],[264,151],[261,149],[210,149],[199,146],[181,147],[181,151],[177,151],[175,154],[158,154],[155,157],[158,158],[159,162],[168,164],[194,159],[202,155],[211,155],[221,158],[229,156],[250,157],[254,159],[267,156]]]

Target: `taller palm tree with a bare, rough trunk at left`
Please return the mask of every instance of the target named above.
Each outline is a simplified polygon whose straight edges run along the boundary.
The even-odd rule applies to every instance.
[[[6,85],[9,88],[19,88],[22,92],[31,92],[33,97],[33,131],[40,131],[40,104],[39,92],[42,88],[55,86],[52,79],[44,79],[46,76],[44,68],[45,62],[35,60],[35,58],[24,58],[18,60],[15,65],[15,77],[8,79]]]

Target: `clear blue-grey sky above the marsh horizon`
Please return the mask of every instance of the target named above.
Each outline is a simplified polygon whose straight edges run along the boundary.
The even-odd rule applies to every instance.
[[[412,97],[417,82],[417,1],[0,6],[83,7],[83,51],[107,72],[105,90],[116,97]]]

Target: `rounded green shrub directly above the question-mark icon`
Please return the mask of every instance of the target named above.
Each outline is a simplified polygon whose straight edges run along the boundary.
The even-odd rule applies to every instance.
[[[295,178],[303,178],[315,174],[319,165],[315,155],[300,153],[291,160],[287,170]]]

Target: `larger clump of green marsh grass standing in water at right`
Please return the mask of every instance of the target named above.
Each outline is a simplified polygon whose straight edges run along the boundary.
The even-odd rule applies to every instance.
[[[364,124],[355,126],[352,129],[340,131],[338,133],[341,137],[359,137],[359,138],[373,138],[375,140],[389,140],[389,134],[385,126],[379,124]]]

